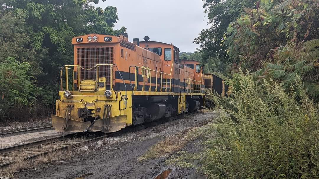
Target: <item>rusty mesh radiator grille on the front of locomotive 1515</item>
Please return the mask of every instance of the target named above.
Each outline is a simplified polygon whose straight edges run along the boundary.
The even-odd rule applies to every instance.
[[[84,47],[77,48],[77,64],[84,69],[80,69],[80,80],[96,80],[96,64],[112,64],[113,47]],[[106,85],[111,84],[111,67],[99,66],[99,77],[106,77]]]

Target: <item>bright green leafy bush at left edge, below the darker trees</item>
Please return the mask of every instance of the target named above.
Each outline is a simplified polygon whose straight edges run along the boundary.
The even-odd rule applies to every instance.
[[[21,106],[33,106],[36,87],[27,75],[31,65],[20,63],[13,57],[6,58],[0,63],[0,119],[6,117]]]

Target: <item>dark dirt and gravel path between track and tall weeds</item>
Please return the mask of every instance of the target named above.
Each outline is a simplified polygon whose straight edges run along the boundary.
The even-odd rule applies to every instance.
[[[85,179],[153,179],[166,170],[167,157],[139,162],[138,157],[153,144],[164,137],[195,126],[207,119],[217,116],[215,112],[191,114],[187,119],[179,119],[153,128],[143,129],[123,136],[110,138],[107,145],[99,142],[97,150],[87,152],[87,148],[78,150],[79,155],[70,160],[45,164],[35,169],[19,172],[15,178],[33,179],[75,179],[85,176]],[[196,148],[192,142],[187,149]],[[179,174],[179,171],[182,173]],[[187,171],[187,172],[186,172]],[[203,178],[194,174],[195,170],[173,169],[172,175],[184,175],[182,178]]]

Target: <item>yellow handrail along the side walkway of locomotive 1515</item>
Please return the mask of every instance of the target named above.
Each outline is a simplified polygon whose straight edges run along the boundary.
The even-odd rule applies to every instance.
[[[164,72],[159,72],[156,70],[152,70],[152,69],[149,69],[148,67],[144,67],[144,66],[142,66],[142,67],[130,66],[129,71],[130,71],[131,67],[135,67],[135,70],[134,70],[135,71],[134,72],[135,73],[135,87],[133,87],[133,85],[131,83],[131,79],[130,79],[130,84],[131,84],[133,91],[138,91],[138,85],[139,85],[138,70],[142,69],[141,74],[142,74],[143,80],[146,79],[147,83],[145,84],[145,81],[143,81],[143,87],[142,87],[141,91],[151,92],[152,87],[155,87],[154,92],[172,92],[172,78],[171,78],[170,74],[167,74]],[[154,76],[152,76],[152,72],[155,73]],[[164,76],[165,76],[165,78],[164,78]],[[152,82],[152,77],[155,77],[155,84],[153,84],[154,82]],[[148,84],[149,79],[150,79],[149,88],[148,88],[148,90],[145,90],[145,85]],[[158,82],[158,79],[160,79],[160,83]],[[164,84],[164,86],[163,86],[163,84]],[[159,90],[158,90],[158,87],[160,87]]]

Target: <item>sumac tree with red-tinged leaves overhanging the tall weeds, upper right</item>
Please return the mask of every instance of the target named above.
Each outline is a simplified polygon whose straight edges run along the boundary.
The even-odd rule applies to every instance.
[[[312,97],[319,96],[319,4],[317,0],[261,0],[229,24],[228,55],[256,78],[289,88],[297,76]]]

